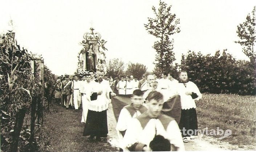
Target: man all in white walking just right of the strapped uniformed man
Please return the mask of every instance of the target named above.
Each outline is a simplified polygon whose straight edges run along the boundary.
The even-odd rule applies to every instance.
[[[77,110],[81,104],[81,83],[78,81],[78,76],[74,76],[74,81],[72,82],[72,90],[73,90],[73,101],[74,107]]]

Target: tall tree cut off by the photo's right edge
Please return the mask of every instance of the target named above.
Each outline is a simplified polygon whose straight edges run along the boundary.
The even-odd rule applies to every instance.
[[[246,17],[246,21],[237,26],[237,36],[241,39],[235,41],[243,46],[243,52],[250,59],[255,56],[253,45],[255,44],[255,7]]]

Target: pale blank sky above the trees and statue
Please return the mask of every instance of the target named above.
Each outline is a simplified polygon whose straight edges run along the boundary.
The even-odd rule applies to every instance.
[[[77,68],[79,42],[93,27],[102,39],[107,60],[142,63],[152,71],[158,39],[147,33],[144,24],[154,17],[158,0],[0,0],[0,33],[13,20],[17,42],[28,51],[42,55],[56,75],[73,74]],[[164,0],[180,18],[180,33],[174,38],[177,63],[188,50],[214,54],[227,49],[236,59],[248,60],[234,41],[237,25],[252,12],[255,0]]]

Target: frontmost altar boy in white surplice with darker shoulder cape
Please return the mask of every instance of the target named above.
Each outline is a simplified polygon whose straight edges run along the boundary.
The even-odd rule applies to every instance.
[[[151,151],[149,144],[156,135],[168,139],[172,151],[185,150],[177,122],[161,113],[163,102],[161,93],[149,93],[146,102],[148,110],[134,118],[127,127],[122,140],[124,151]]]

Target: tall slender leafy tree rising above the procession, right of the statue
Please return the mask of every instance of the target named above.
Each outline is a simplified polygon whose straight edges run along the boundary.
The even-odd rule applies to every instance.
[[[158,11],[153,6],[152,10],[155,18],[148,18],[148,23],[144,24],[149,34],[158,38],[154,43],[153,48],[157,51],[154,64],[161,71],[169,71],[172,63],[175,60],[173,49],[174,39],[170,39],[170,35],[180,32],[178,27],[179,18],[171,13],[171,5],[160,1]]]

